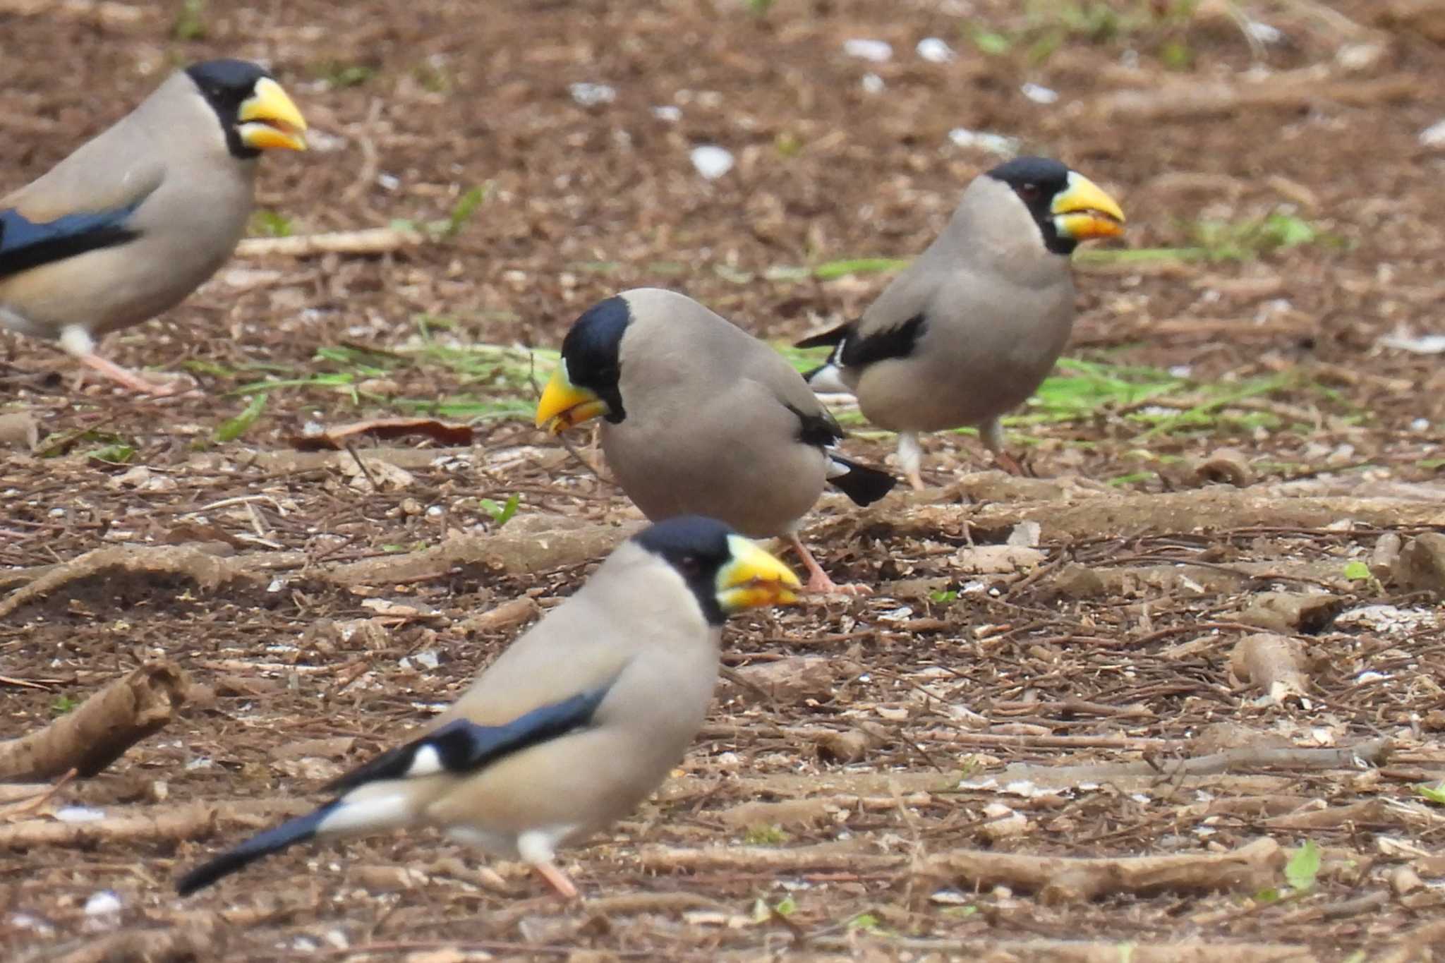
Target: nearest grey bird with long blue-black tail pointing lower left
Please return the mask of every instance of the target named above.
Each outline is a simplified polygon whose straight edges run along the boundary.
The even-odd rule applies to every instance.
[[[626,816],[682,759],[727,615],[796,601],[798,576],[714,518],[669,518],[481,671],[429,732],[342,775],[335,797],[186,872],[189,895],[309,839],[435,826],[530,863],[562,897],[559,846]]]

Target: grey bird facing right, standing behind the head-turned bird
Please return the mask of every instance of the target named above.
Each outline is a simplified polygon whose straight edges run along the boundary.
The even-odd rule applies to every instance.
[[[1016,157],[977,176],[942,234],[863,316],[796,342],[832,347],[805,377],[848,391],[874,424],[899,432],[915,489],[919,432],[977,426],[1007,471],[998,419],[1053,368],[1074,325],[1069,256],[1118,237],[1124,212],[1098,185],[1049,157]]]

